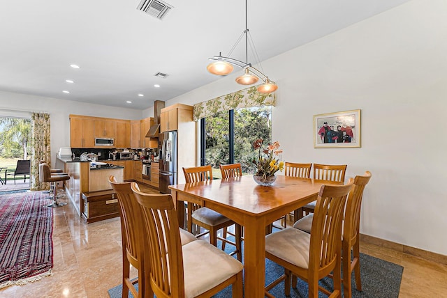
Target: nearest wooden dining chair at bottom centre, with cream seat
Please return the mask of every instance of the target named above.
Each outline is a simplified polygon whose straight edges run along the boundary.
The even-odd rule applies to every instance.
[[[150,268],[145,278],[156,297],[211,297],[228,285],[233,297],[242,297],[241,262],[203,240],[181,246],[173,197],[142,193],[135,182],[131,189],[142,207],[138,220],[145,227],[144,263]]]

